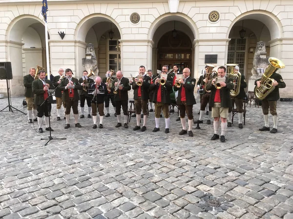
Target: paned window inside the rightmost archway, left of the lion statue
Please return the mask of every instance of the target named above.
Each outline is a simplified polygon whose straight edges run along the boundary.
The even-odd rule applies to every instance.
[[[228,45],[228,64],[238,64],[239,71],[244,73],[246,38],[231,39]]]

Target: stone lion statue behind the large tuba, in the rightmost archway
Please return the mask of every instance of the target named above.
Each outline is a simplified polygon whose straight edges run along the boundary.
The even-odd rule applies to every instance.
[[[251,69],[252,76],[260,75],[257,73],[258,68],[263,68],[264,70],[269,65],[269,60],[266,52],[266,43],[264,41],[259,41],[256,44],[255,53],[253,56],[253,68]]]

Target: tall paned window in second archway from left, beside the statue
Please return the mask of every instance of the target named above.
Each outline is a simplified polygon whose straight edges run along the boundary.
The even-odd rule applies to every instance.
[[[108,39],[108,69],[121,70],[121,51],[118,39]]]

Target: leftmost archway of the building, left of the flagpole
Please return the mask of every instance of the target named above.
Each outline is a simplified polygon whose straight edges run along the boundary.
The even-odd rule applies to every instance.
[[[49,33],[48,38],[50,38]],[[34,16],[15,18],[6,31],[7,60],[11,62],[13,79],[12,95],[24,93],[23,76],[30,68],[46,69],[45,28],[42,20]],[[17,86],[17,89],[14,89]]]

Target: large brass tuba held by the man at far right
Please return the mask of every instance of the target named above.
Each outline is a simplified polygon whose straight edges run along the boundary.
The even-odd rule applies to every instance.
[[[275,87],[272,86],[274,80],[270,78],[272,74],[278,69],[285,68],[285,64],[277,58],[270,57],[269,62],[270,64],[267,66],[265,73],[259,79],[261,83],[260,86],[257,87],[256,85],[254,88],[255,96],[259,100],[265,99],[275,89]]]

